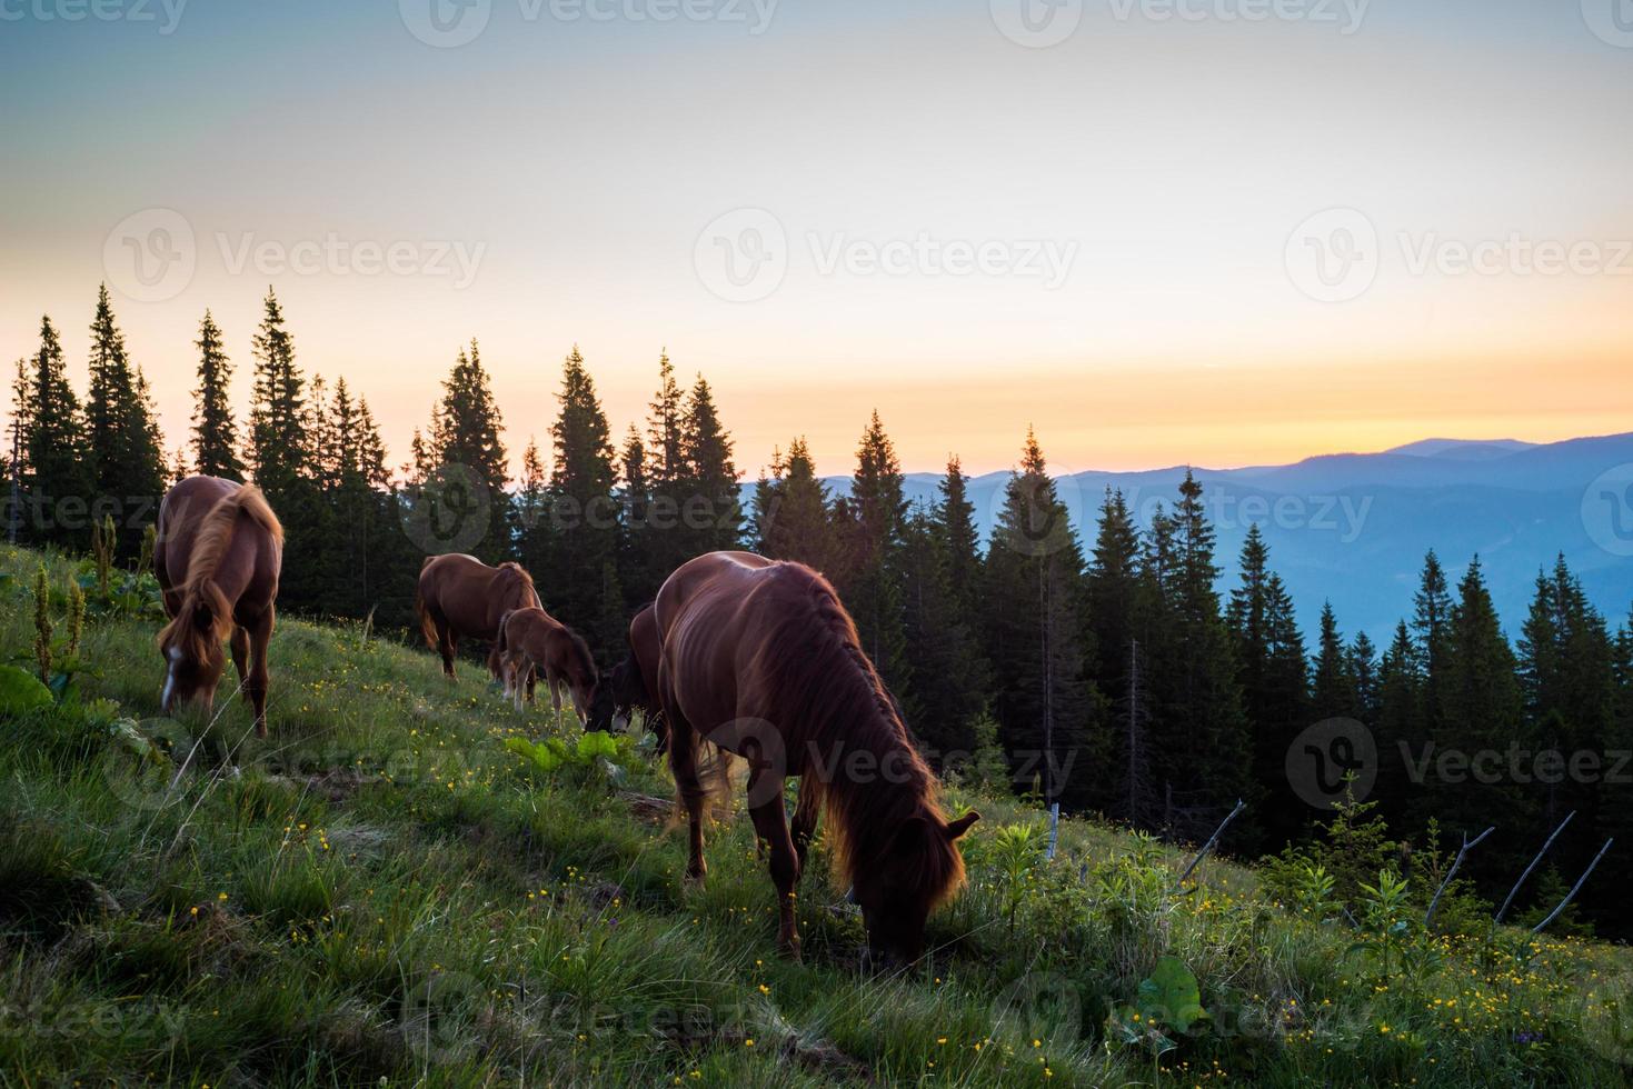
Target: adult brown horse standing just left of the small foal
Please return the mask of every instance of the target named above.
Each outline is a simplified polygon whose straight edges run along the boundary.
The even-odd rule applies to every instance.
[[[488,567],[474,555],[449,553],[426,557],[420,567],[420,586],[413,598],[425,642],[443,655],[443,673],[454,679],[454,655],[459,637],[492,643],[488,673],[503,681],[500,668],[500,620],[513,609],[541,609],[532,576],[519,563]],[[532,674],[527,694],[532,694]],[[508,686],[506,686],[508,687]]]

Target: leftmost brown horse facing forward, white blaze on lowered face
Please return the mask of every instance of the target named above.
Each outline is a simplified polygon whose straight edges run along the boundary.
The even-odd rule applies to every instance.
[[[167,715],[194,699],[206,710],[214,705],[227,666],[222,642],[230,638],[238,684],[255,707],[255,733],[266,736],[266,643],[283,560],[283,526],[255,485],[188,477],[165,495],[154,573],[170,616],[158,633]]]

